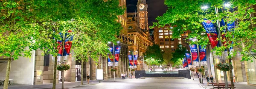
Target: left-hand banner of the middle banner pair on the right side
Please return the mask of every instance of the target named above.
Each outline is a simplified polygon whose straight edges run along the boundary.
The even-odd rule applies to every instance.
[[[199,65],[197,45],[189,45],[189,47],[190,47],[190,51],[192,54],[191,56],[192,56],[192,60],[193,60],[193,65],[197,66],[197,65]]]

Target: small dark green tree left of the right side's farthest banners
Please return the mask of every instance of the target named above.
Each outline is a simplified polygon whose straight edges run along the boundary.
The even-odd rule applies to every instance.
[[[173,57],[171,58],[171,61],[173,64],[180,64],[180,60],[182,61],[185,57],[186,53],[186,47],[182,47],[182,45],[178,45],[177,49],[174,53],[172,53]],[[177,63],[176,63],[177,62]]]

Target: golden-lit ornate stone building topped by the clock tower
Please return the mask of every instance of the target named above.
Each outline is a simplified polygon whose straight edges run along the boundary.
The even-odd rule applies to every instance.
[[[147,47],[153,45],[148,30],[148,4],[146,0],[138,0],[137,11],[127,13],[128,19],[128,51],[129,54],[139,55],[137,70],[143,70],[143,53]]]

